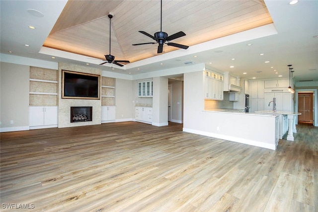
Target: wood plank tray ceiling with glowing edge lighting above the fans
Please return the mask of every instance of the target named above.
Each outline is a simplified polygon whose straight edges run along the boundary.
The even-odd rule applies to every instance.
[[[105,59],[139,61],[157,54],[158,44],[138,31],[160,31],[160,0],[69,0],[43,46]],[[171,42],[190,46],[273,23],[263,0],[163,0],[162,31],[186,36]],[[178,48],[164,45],[163,53]]]

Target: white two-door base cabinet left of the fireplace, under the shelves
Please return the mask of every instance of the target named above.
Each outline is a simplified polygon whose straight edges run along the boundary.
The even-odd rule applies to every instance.
[[[52,128],[58,124],[57,106],[32,106],[29,107],[30,129]]]

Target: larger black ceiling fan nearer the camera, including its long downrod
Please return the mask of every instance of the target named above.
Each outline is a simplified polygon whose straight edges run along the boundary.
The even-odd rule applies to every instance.
[[[176,38],[185,36],[185,33],[180,31],[177,32],[173,35],[168,36],[167,33],[162,32],[162,0],[161,0],[161,10],[160,10],[160,32],[156,32],[154,34],[154,36],[152,36],[151,34],[145,32],[145,31],[139,31],[140,33],[143,33],[144,35],[147,35],[148,37],[154,39],[156,41],[156,43],[159,44],[158,46],[158,51],[157,53],[162,53],[162,49],[163,49],[163,44],[166,44],[168,46],[174,46],[177,48],[181,48],[181,49],[187,49],[189,48],[188,46],[182,45],[182,44],[177,44],[177,43],[171,43],[169,41],[174,40]],[[133,46],[137,46],[137,45],[144,45],[144,44],[156,44],[155,42],[150,42],[150,43],[138,43],[138,44],[133,44]]]

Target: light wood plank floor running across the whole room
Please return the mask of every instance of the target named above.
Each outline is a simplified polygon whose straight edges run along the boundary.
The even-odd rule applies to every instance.
[[[297,130],[277,150],[174,123],[1,133],[0,211],[317,212],[318,128]]]

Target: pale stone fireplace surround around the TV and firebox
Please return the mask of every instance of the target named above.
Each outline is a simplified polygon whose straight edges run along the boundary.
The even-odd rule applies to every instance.
[[[62,70],[102,75],[101,69],[84,67],[75,64],[59,63],[58,127],[64,128],[101,124],[101,99],[62,99]],[[71,107],[92,107],[92,121],[71,123]]]

